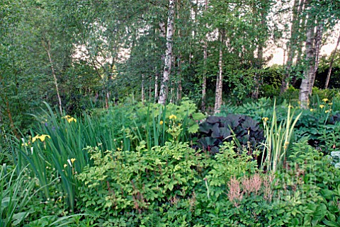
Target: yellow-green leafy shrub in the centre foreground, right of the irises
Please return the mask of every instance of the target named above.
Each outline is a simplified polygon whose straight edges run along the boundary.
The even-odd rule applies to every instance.
[[[136,151],[107,151],[105,156],[98,147],[86,150],[94,166],[77,176],[78,206],[98,220],[137,218],[151,204],[162,206],[190,196],[200,182],[200,156],[187,144],[166,142],[148,151],[142,141]]]

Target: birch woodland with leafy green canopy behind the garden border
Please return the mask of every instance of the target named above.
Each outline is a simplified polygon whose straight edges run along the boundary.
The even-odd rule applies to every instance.
[[[42,101],[79,114],[129,95],[186,96],[218,112],[293,86],[306,107],[313,85],[340,83],[339,53],[319,54],[336,33],[339,1],[5,0],[0,13],[5,131],[27,129]],[[276,46],[285,64],[267,66]]]

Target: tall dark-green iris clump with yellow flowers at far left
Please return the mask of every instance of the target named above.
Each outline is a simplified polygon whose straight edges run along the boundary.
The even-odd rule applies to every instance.
[[[60,177],[61,190],[64,192],[67,204],[74,209],[77,181],[74,175],[91,165],[86,146],[101,146],[106,149],[116,149],[113,141],[113,131],[103,128],[96,117],[85,115],[83,119],[71,116],[61,116],[47,110],[42,115],[35,115],[36,127],[26,139],[13,138],[16,150],[14,158],[20,166],[30,164],[30,170],[38,177],[43,194],[50,197],[48,183],[53,177]]]

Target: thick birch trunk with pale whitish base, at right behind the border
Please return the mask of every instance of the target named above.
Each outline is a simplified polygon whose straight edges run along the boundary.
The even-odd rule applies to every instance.
[[[312,76],[315,67],[315,48],[314,48],[314,20],[310,19],[306,33],[306,66],[304,70],[305,78],[302,79],[300,86],[300,105],[301,108],[308,107],[308,95],[310,95],[310,87],[312,86]]]

